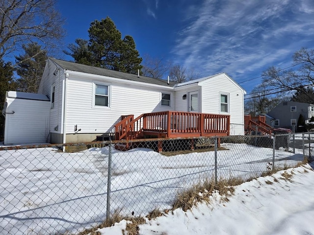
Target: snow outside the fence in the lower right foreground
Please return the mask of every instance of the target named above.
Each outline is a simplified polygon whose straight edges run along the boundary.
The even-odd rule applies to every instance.
[[[215,192],[210,204],[177,209],[139,225],[139,235],[313,235],[314,164],[279,171],[235,188],[229,202]],[[128,221],[99,229],[122,235]]]

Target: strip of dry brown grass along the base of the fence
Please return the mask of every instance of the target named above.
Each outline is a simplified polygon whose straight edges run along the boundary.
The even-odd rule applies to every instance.
[[[208,150],[207,150],[208,151]],[[187,151],[181,151],[182,153],[187,153]],[[163,153],[165,156],[172,156],[178,154],[174,154],[174,152],[165,152]],[[166,155],[167,154],[167,155]],[[169,154],[169,155],[168,155]],[[296,165],[296,167],[301,166],[303,164],[306,164],[307,161],[300,162]],[[262,176],[270,176],[273,173],[276,173],[277,171],[284,170],[287,166],[284,165],[281,168],[276,167],[274,170],[269,169],[266,172],[262,173]],[[304,169],[305,172],[308,172],[306,169]],[[284,173],[281,174],[284,179],[290,180],[293,176],[293,172],[288,173],[285,171]],[[222,196],[221,200],[222,201],[229,201],[228,197],[233,195],[235,188],[234,186],[240,185],[244,183],[245,181],[250,181],[252,179],[256,179],[256,177],[252,177],[251,179],[248,180],[243,180],[241,177],[237,178],[232,178],[230,177],[229,179],[219,179],[217,184],[215,184],[214,179],[209,179],[205,178],[205,180],[200,181],[199,183],[193,185],[191,188],[181,191],[178,193],[177,198],[175,199],[172,209],[171,210],[165,210],[165,211],[160,211],[158,209],[155,209],[151,212],[148,213],[146,218],[149,220],[155,219],[159,216],[168,214],[169,211],[174,211],[178,208],[181,208],[183,211],[190,210],[193,206],[196,206],[197,203],[199,202],[207,202],[210,203],[210,196],[212,195],[213,192],[218,191],[219,194]],[[278,182],[278,179],[276,179],[274,176],[272,176],[274,179],[274,182]],[[265,181],[266,184],[271,185],[273,184],[272,181]],[[98,229],[105,228],[105,227],[110,227],[114,225],[115,223],[120,222],[121,220],[127,220],[131,221],[127,224],[126,230],[122,230],[123,235],[139,235],[139,225],[144,224],[146,222],[145,218],[142,216],[123,216],[120,213],[121,211],[115,211],[110,218],[106,219],[101,225],[98,227],[85,230],[81,232],[79,235],[100,235],[100,232],[98,232]]]

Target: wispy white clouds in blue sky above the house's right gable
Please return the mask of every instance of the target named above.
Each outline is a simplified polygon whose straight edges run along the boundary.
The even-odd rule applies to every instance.
[[[245,75],[291,60],[304,44],[314,45],[311,2],[205,0],[190,6],[190,22],[172,51],[175,62],[203,75]]]

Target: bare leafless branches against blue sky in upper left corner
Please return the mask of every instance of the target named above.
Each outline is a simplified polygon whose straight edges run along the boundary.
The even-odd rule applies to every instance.
[[[56,0],[0,1],[0,59],[26,43],[48,48],[64,36],[64,20],[55,10]]]

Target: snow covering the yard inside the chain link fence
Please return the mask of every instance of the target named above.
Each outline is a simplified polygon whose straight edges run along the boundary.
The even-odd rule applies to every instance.
[[[271,148],[222,146],[228,150],[218,151],[218,178],[249,179],[272,167]],[[296,165],[303,160],[302,153],[276,150],[276,167]],[[113,149],[112,163],[111,212],[146,215],[156,208],[171,208],[178,191],[212,177],[214,152],[166,157],[145,148]],[[106,214],[107,168],[108,147],[78,153],[54,148],[0,151],[0,234],[75,233],[101,223]]]

